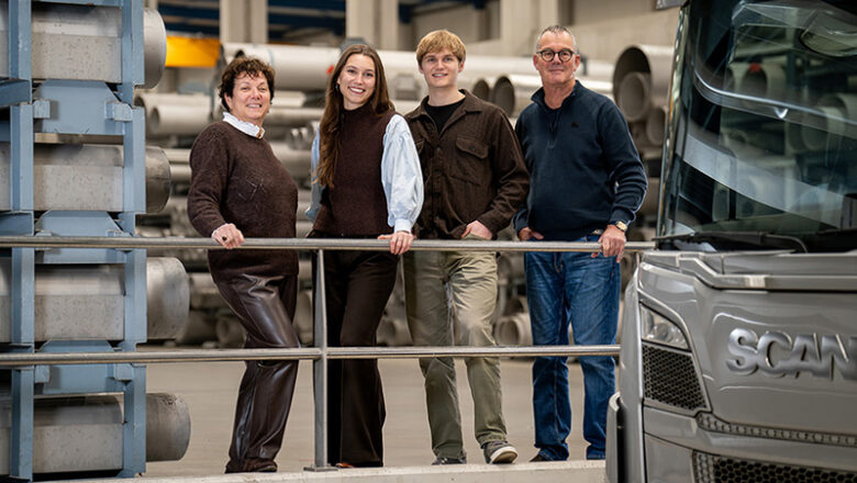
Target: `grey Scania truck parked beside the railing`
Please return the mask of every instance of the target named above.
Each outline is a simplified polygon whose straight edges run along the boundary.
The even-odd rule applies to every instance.
[[[680,5],[608,480],[857,482],[857,2]]]

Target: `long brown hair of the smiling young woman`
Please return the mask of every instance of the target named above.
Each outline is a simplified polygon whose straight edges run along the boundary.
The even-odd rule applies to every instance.
[[[390,101],[390,93],[387,90],[387,77],[383,74],[383,64],[378,53],[368,45],[357,44],[346,48],[340,56],[340,60],[331,72],[327,81],[327,91],[324,96],[324,114],[322,114],[321,126],[319,127],[319,168],[315,170],[315,182],[322,186],[333,187],[333,173],[336,170],[336,160],[340,158],[340,134],[342,133],[343,122],[343,97],[336,88],[336,81],[340,80],[342,69],[345,63],[355,54],[363,54],[372,59],[375,64],[375,92],[369,98],[376,115],[381,115],[393,108]]]

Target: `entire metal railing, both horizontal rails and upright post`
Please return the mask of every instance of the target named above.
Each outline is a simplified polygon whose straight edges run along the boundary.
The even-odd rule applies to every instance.
[[[236,249],[315,250],[316,303],[313,337],[318,347],[297,349],[220,349],[180,351],[104,352],[11,352],[0,353],[0,368],[49,364],[162,363],[185,361],[312,360],[315,420],[314,468],[327,468],[327,361],[331,359],[403,359],[421,357],[535,357],[535,356],[617,356],[619,346],[528,346],[528,347],[327,347],[324,301],[324,250],[389,250],[389,243],[367,238],[246,238]],[[210,238],[141,236],[0,236],[0,248],[146,248],[224,249]],[[628,242],[625,251],[655,248],[654,243]],[[413,250],[432,251],[600,251],[598,243],[580,242],[493,242],[416,239]],[[31,349],[32,350],[32,349]]]

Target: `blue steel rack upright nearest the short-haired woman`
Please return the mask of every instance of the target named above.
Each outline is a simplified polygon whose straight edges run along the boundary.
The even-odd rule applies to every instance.
[[[134,86],[144,82],[143,2],[122,0],[122,83],[119,98],[131,108],[131,119],[123,123],[122,231],[133,235],[137,213],[146,210],[145,119],[134,106]],[[136,350],[146,341],[146,251],[131,250],[125,259],[125,334],[122,350]],[[131,380],[124,384],[123,457],[121,476],[130,478],[146,470],[146,367],[135,364]]]

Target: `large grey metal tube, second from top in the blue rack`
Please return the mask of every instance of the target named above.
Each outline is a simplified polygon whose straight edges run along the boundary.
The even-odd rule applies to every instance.
[[[10,204],[10,149],[0,143],[0,210]],[[33,209],[123,211],[122,146],[37,144],[33,148]],[[160,211],[169,198],[169,161],[146,148],[146,212]]]

